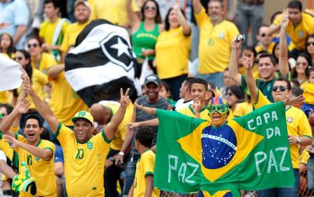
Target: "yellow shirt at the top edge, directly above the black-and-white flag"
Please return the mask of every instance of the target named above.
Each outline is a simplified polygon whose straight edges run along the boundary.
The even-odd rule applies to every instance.
[[[120,26],[129,22],[126,0],[94,0],[91,6],[91,20],[105,19]],[[135,0],[132,0],[132,8],[135,13],[140,11]]]

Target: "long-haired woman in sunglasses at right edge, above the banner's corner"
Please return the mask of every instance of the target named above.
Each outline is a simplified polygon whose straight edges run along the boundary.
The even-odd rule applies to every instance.
[[[308,85],[308,66],[312,66],[312,59],[306,53],[300,53],[297,57],[297,64],[291,71],[291,78],[298,80],[301,89],[304,89]]]

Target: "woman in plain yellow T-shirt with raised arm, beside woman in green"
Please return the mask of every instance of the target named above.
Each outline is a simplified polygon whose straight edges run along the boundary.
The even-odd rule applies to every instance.
[[[187,77],[190,53],[190,25],[176,3],[165,17],[165,31],[156,43],[156,68],[160,79],[170,85],[174,100],[179,99],[181,83]]]

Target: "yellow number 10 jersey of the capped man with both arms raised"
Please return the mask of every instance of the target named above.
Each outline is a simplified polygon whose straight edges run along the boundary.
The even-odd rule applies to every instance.
[[[55,136],[63,149],[68,196],[104,196],[103,173],[110,148],[105,131],[81,144],[72,130],[59,123]]]

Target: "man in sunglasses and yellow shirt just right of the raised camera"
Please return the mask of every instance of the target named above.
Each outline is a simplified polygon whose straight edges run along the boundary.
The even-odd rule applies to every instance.
[[[269,54],[273,52],[275,43],[271,42],[271,36],[267,34],[267,31],[269,29],[268,25],[262,25],[260,27],[260,30],[257,34],[257,40],[260,42],[260,45],[257,45],[255,47],[255,51],[261,52],[261,51],[267,51]]]

